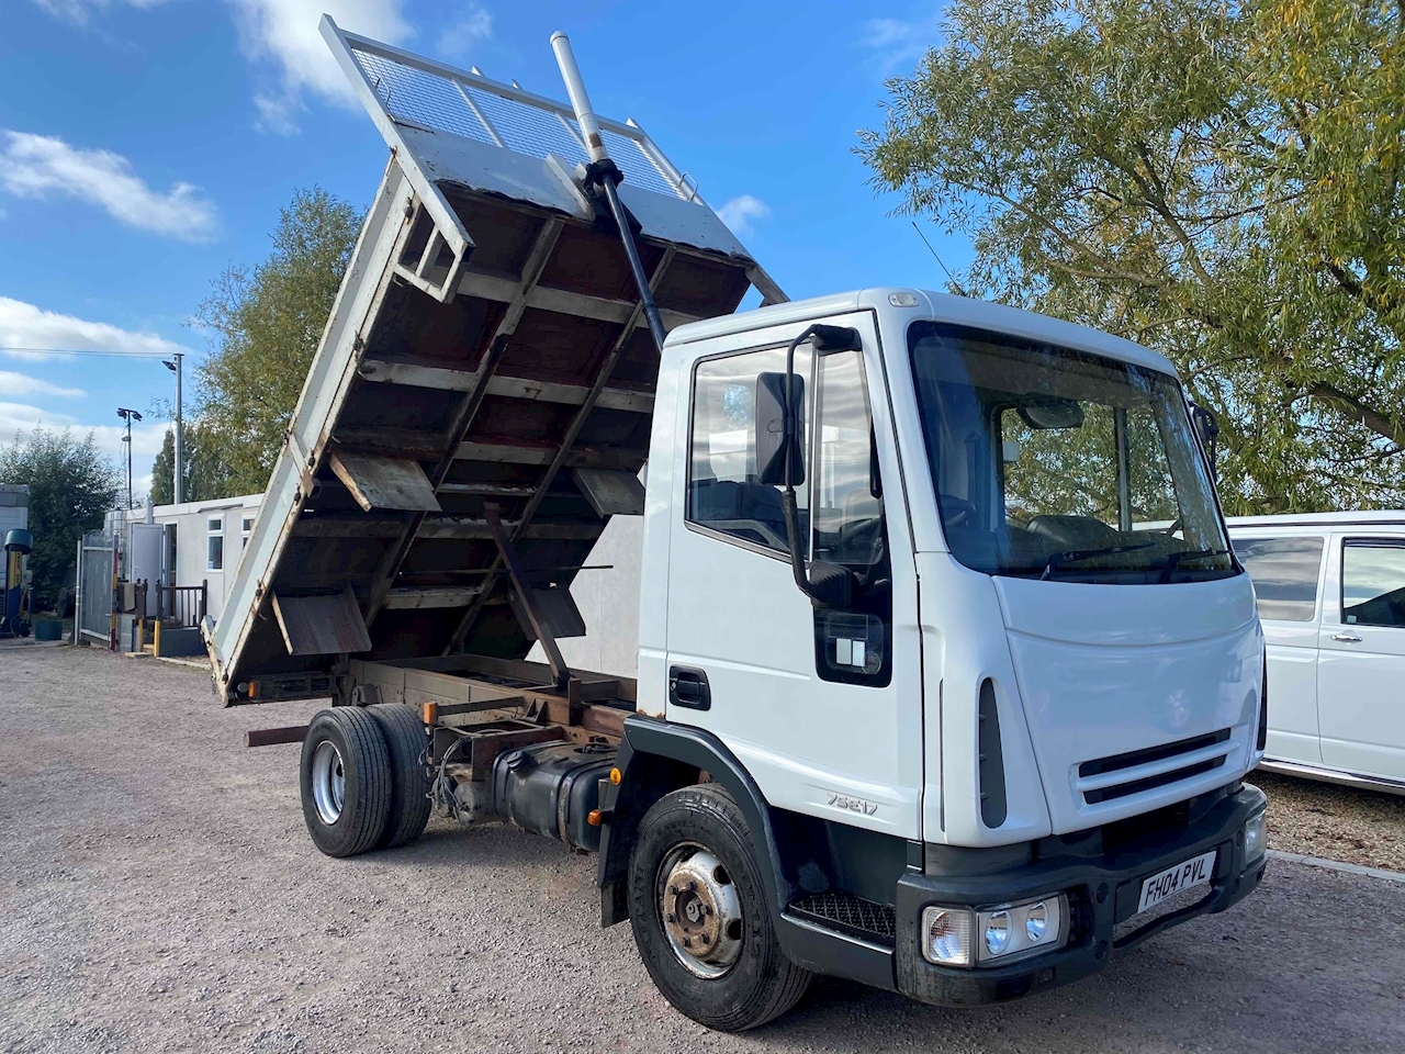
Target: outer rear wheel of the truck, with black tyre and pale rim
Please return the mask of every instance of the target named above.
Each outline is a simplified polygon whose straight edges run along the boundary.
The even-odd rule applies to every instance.
[[[381,840],[391,812],[391,752],[375,718],[355,707],[319,710],[302,741],[302,818],[327,856]]]

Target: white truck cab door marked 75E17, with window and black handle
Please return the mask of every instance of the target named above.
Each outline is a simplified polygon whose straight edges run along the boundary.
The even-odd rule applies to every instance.
[[[856,327],[863,350],[797,354],[801,545],[854,572],[856,603],[816,610],[799,590],[781,490],[757,475],[759,378],[784,374],[804,326],[710,346],[691,365],[676,436],[666,714],[714,732],[773,807],[916,839],[916,572],[881,349],[867,312],[823,322]]]

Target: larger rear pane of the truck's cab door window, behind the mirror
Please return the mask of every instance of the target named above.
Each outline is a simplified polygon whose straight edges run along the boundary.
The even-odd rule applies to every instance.
[[[757,482],[754,422],[757,375],[784,370],[784,347],[698,363],[687,512],[690,523],[783,554],[790,552],[790,544],[781,488]],[[809,353],[804,349],[795,353],[795,372],[809,375]],[[802,534],[808,530],[805,490],[797,488]]]

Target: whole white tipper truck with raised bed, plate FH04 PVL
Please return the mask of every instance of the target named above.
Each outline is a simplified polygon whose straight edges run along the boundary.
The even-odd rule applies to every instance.
[[[225,704],[333,700],[247,736],[302,742],[322,852],[431,808],[597,852],[603,923],[724,1030],[815,974],[1021,996],[1256,887],[1263,637],[1169,361],[787,302],[559,35],[570,107],[323,35],[391,162],[205,627]],[[622,514],[636,679],[556,644]]]

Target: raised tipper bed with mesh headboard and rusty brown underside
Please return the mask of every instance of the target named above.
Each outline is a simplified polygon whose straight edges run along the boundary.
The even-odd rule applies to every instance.
[[[600,495],[648,453],[658,351],[618,232],[576,183],[570,110],[329,18],[323,35],[392,157],[205,627],[226,704],[330,694],[348,655],[524,656],[485,505],[532,589],[563,592],[611,514]],[[603,125],[666,327],[753,284],[784,299],[641,129]]]

